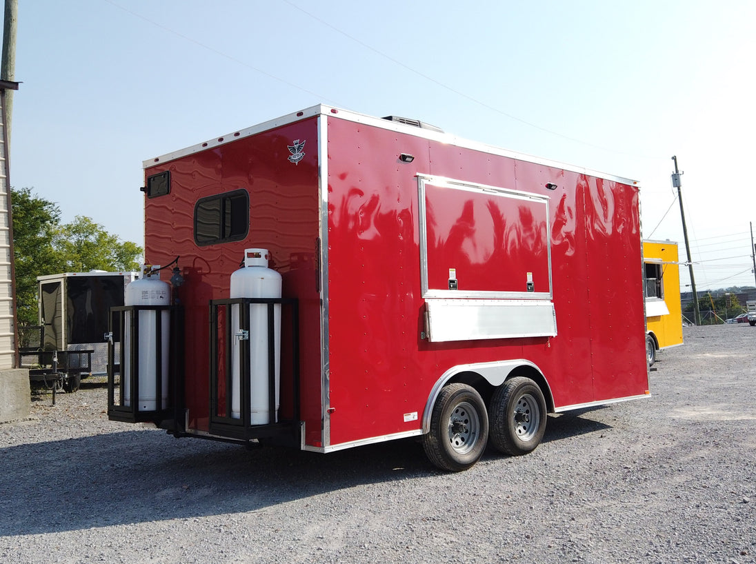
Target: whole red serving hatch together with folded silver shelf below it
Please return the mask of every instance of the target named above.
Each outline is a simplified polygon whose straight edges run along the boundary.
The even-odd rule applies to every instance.
[[[419,175],[431,341],[555,336],[548,198]]]

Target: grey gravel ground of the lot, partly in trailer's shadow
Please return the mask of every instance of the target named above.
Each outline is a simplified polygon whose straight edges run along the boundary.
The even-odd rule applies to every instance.
[[[102,383],[0,425],[0,562],[756,562],[756,327],[691,327],[652,396],[550,416],[525,457],[438,473],[107,420]]]

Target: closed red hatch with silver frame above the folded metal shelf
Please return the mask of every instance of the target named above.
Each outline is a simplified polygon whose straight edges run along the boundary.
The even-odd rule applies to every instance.
[[[423,298],[551,299],[548,197],[418,175]]]

